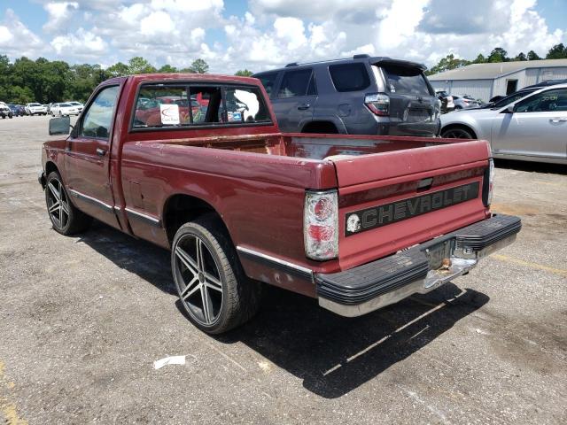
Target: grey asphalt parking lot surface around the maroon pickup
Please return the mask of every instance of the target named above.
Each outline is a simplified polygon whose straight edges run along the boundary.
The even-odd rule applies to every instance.
[[[50,228],[48,120],[0,120],[0,422],[567,423],[565,167],[497,163],[493,209],[524,228],[454,283],[350,320],[268,289],[212,337],[167,251]]]

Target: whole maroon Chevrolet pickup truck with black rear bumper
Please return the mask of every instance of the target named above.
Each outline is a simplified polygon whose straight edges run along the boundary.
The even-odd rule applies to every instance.
[[[487,142],[282,134],[267,98],[252,78],[103,82],[72,130],[50,120],[66,135],[43,145],[53,228],[94,217],[170,250],[182,304],[209,333],[248,320],[263,283],[357,316],[515,240],[520,220],[490,213]]]

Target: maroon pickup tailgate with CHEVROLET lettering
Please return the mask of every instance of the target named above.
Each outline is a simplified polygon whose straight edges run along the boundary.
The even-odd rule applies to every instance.
[[[485,219],[489,152],[485,141],[459,141],[329,158],[338,179],[341,269]]]

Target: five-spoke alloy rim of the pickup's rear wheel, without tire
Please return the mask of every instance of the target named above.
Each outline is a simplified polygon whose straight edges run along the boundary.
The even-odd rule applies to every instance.
[[[175,270],[179,298],[191,317],[211,326],[218,321],[222,307],[219,267],[206,243],[195,235],[185,235],[175,245]]]

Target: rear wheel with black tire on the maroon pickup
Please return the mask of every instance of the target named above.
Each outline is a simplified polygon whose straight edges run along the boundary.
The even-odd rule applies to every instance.
[[[207,250],[207,253],[201,257],[201,264],[205,266],[202,267],[203,273],[198,273],[199,277],[192,271],[195,267],[188,267],[185,260],[187,254],[191,255],[189,249],[193,241],[197,243],[198,239]],[[183,250],[181,257],[179,249]],[[206,252],[203,247],[201,250]],[[194,259],[192,260],[191,265],[194,264]],[[213,266],[216,270],[213,270]],[[237,257],[237,251],[221,223],[214,217],[208,216],[190,221],[177,230],[171,250],[171,267],[180,302],[189,320],[208,334],[221,334],[236,328],[250,320],[260,307],[260,282],[253,282],[246,277]],[[197,268],[197,270],[201,269]],[[209,290],[211,286],[207,286],[206,282],[210,274],[220,281],[221,290],[218,287],[216,290]],[[191,281],[191,276],[194,279],[198,278],[196,284],[191,285],[190,282],[187,284],[187,281]],[[201,288],[198,289],[198,286]],[[208,295],[204,297],[203,291]],[[194,294],[190,295],[191,292]],[[186,298],[183,297],[184,294],[188,294],[185,295]],[[200,309],[199,299],[202,305]],[[204,307],[206,299],[211,300],[210,304],[207,303],[208,309],[215,314],[209,320],[206,318],[208,314]],[[215,301],[217,313],[214,308]]]

